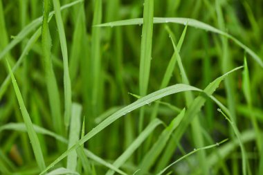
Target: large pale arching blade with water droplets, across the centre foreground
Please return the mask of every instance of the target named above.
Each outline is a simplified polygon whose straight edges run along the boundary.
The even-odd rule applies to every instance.
[[[155,100],[158,100],[160,98],[163,98],[167,95],[171,95],[174,93],[179,93],[183,91],[200,91],[199,89],[195,88],[194,86],[189,86],[186,84],[175,84],[173,86],[169,86],[165,89],[161,89],[159,91],[155,91],[154,93],[150,93],[149,95],[146,95],[143,98],[138,99],[136,102],[133,102],[132,104],[129,104],[127,107],[124,107],[123,109],[120,109],[116,113],[109,116],[109,118],[106,118],[103,120],[97,127],[93,128],[89,133],[87,133],[84,138],[79,140],[78,144],[75,144],[73,147],[68,149],[64,152],[59,158],[57,158],[51,165],[46,167],[46,169],[41,173],[44,174],[44,172],[48,171],[48,169],[51,169],[54,165],[60,162],[63,158],[68,156],[68,154],[78,148],[80,145],[84,144],[84,142],[87,142],[87,140],[91,139],[93,136],[95,136],[97,133],[100,133],[103,129],[105,129],[107,126],[111,125],[114,121],[118,120],[118,118],[125,116],[127,113],[134,111],[135,109],[138,109],[140,107],[143,107],[146,104],[149,104],[151,102],[154,102]]]

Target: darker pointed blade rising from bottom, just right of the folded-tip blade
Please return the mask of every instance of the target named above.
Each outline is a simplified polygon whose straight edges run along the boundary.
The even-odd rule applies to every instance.
[[[154,165],[156,162],[156,159],[158,156],[160,156],[161,151],[165,148],[165,145],[167,144],[168,139],[172,135],[174,129],[180,125],[180,122],[185,115],[185,109],[179,113],[178,116],[170,122],[170,125],[167,126],[161,135],[158,137],[158,140],[154,143],[151,149],[147,152],[147,154],[143,157],[143,160],[140,162],[139,169],[140,171],[137,173],[139,174],[145,174],[146,172],[149,171],[149,169]]]

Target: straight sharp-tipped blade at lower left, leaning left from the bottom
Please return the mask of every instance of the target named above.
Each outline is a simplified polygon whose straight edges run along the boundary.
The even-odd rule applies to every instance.
[[[14,89],[15,89],[15,94],[17,95],[17,100],[19,102],[19,107],[21,109],[22,117],[23,117],[24,123],[26,125],[26,130],[28,131],[30,143],[33,147],[33,152],[34,152],[35,158],[37,160],[37,165],[38,165],[39,169],[41,171],[43,171],[45,169],[46,165],[45,165],[44,157],[42,154],[41,146],[40,146],[39,140],[37,138],[37,133],[35,132],[35,129],[33,127],[33,123],[30,119],[28,111],[26,110],[22,95],[21,95],[19,87],[17,85],[17,80],[15,80],[15,76],[12,73],[11,67],[10,67],[7,59],[6,59],[6,63],[8,66],[8,71],[11,75],[12,84],[13,84]]]

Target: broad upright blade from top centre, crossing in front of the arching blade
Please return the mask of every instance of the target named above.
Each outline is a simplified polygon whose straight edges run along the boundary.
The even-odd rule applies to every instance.
[[[143,8],[143,31],[140,42],[140,72],[139,92],[141,96],[147,94],[149,84],[149,72],[152,59],[152,33],[153,33],[154,1],[145,0]],[[139,133],[143,130],[144,108],[140,109]]]

